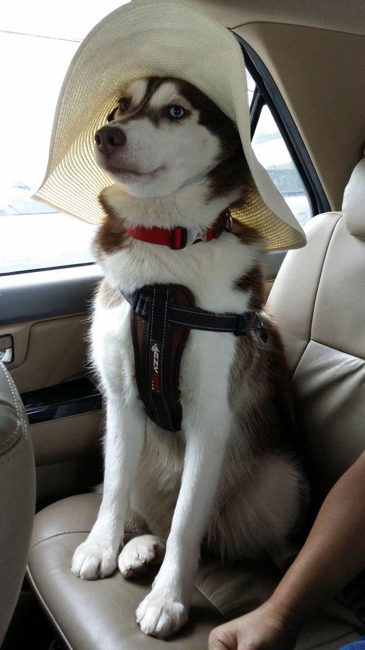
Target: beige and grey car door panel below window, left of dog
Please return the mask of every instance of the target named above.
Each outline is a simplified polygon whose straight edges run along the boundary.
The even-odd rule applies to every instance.
[[[0,278],[0,342],[12,337],[7,367],[22,395],[88,376],[88,310],[99,277],[96,266],[79,266]],[[29,430],[37,507],[99,480],[101,403],[92,411],[31,424]]]

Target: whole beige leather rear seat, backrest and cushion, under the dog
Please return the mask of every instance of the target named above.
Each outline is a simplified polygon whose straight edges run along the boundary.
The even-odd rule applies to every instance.
[[[325,493],[365,447],[365,161],[347,187],[344,215],[316,216],[307,236],[306,248],[286,256],[270,309],[284,334],[314,481]],[[97,582],[71,575],[73,551],[98,506],[99,496],[86,494],[36,515],[29,577],[68,648],[205,650],[214,625],[257,606],[279,580],[262,562],[202,564],[189,623],[170,642],[148,638],[134,611],[151,575],[130,582],[118,572]],[[361,629],[362,621],[333,599],[306,625],[297,648],[336,650]]]

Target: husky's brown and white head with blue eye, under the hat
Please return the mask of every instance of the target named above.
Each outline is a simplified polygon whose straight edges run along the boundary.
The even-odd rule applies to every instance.
[[[97,163],[132,196],[172,194],[238,150],[234,122],[195,86],[173,77],[134,81],[95,134]]]

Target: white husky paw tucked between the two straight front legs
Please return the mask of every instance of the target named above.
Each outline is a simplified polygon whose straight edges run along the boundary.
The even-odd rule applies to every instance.
[[[134,537],[125,545],[118,558],[121,575],[132,578],[144,573],[149,566],[162,562],[164,552],[164,542],[155,535]]]

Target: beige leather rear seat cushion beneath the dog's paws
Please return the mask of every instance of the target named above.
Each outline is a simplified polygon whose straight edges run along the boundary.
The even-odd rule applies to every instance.
[[[95,493],[69,497],[42,510],[34,523],[29,579],[66,647],[73,650],[206,650],[213,627],[224,617],[253,609],[279,580],[277,569],[265,562],[234,567],[203,563],[188,624],[168,642],[144,636],[134,612],[151,589],[153,573],[127,581],[117,571],[95,582],[71,574],[73,551],[86,538],[99,504]],[[297,649],[336,650],[359,638],[361,627],[353,612],[333,600],[303,630]]]

